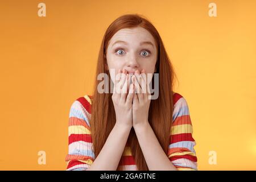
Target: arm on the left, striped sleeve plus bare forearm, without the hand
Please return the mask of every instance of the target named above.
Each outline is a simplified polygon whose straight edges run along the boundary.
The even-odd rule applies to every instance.
[[[89,123],[91,102],[88,100],[88,97],[80,97],[71,106],[68,125],[68,155],[65,159],[68,162],[67,171],[116,170],[131,126],[116,123],[95,159]],[[114,156],[111,162],[110,156]]]

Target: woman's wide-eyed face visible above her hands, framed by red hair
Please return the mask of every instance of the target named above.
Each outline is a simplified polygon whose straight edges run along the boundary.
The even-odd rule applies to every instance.
[[[123,28],[110,39],[106,59],[113,82],[119,69],[128,73],[137,70],[141,73],[142,69],[154,73],[157,59],[154,37],[142,27]]]

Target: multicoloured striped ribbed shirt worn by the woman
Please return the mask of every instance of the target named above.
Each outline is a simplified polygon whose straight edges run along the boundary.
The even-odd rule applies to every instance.
[[[179,93],[173,95],[174,111],[170,131],[168,158],[178,170],[197,170],[193,129],[187,101]],[[92,96],[73,102],[69,112],[67,171],[86,170],[95,159],[90,133]],[[131,148],[127,145],[117,167],[118,171],[137,171]]]

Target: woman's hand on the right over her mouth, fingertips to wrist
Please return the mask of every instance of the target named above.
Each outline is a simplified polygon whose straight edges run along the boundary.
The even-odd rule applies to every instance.
[[[146,74],[144,69],[141,73]],[[142,82],[140,82],[139,77],[142,78]],[[151,94],[147,90],[146,77],[140,75],[138,70],[135,71],[132,81],[133,84],[135,84],[135,93],[133,97],[133,127],[135,129],[136,127],[140,127],[148,123],[148,110],[150,107]]]

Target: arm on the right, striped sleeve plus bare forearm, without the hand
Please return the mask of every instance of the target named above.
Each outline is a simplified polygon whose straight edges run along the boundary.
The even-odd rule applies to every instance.
[[[194,150],[196,142],[192,138],[193,129],[188,105],[180,94],[176,93],[174,98],[177,102],[174,105],[172,117],[168,158],[148,122],[138,122],[137,125],[134,125],[135,133],[150,170],[197,170],[197,157]]]

